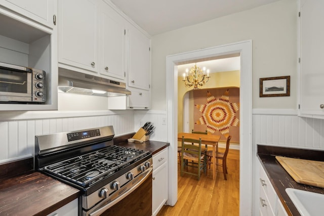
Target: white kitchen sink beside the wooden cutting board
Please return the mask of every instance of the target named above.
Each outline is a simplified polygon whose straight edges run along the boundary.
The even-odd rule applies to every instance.
[[[302,216],[323,215],[324,194],[286,188],[286,192]]]

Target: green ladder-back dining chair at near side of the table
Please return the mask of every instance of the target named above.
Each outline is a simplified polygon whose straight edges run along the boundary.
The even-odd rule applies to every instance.
[[[192,145],[196,144],[196,145]],[[186,139],[182,137],[181,142],[181,176],[183,174],[190,174],[193,176],[197,176],[198,180],[200,180],[200,172],[204,170],[206,174],[206,156],[201,153],[201,138],[199,140],[195,139]],[[186,171],[184,170],[185,166],[196,167],[197,172],[189,172],[188,167]]]

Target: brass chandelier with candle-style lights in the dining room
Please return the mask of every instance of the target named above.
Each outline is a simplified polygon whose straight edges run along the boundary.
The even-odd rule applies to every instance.
[[[209,69],[207,70],[206,74],[206,67],[203,67],[203,70],[201,70],[197,65],[195,64],[191,69],[190,72],[188,68],[186,69],[186,73],[183,73],[183,79],[185,87],[193,87],[194,90],[198,89],[198,87],[202,87],[206,84],[209,80]]]

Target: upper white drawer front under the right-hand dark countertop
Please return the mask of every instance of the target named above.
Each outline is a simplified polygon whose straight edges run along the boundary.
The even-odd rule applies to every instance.
[[[275,193],[275,190],[273,189],[272,184],[271,184],[266,172],[262,168],[262,166],[260,166],[259,181],[260,181],[260,194],[262,191],[264,191],[264,193],[268,199],[269,205],[271,206],[271,209],[274,212],[277,194]]]

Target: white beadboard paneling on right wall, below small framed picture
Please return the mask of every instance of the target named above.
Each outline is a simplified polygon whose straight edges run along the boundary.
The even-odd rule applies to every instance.
[[[255,144],[324,150],[324,120],[254,112],[253,137]]]

